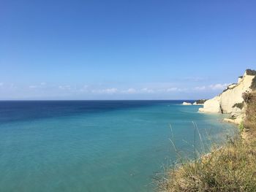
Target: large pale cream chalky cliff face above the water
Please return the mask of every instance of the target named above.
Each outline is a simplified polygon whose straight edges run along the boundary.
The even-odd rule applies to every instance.
[[[244,99],[242,94],[251,91],[252,80],[255,77],[255,71],[246,70],[243,77],[238,78],[238,83],[229,85],[225,91],[213,99],[209,99],[200,108],[200,112],[222,112],[231,113],[233,115],[241,115]]]

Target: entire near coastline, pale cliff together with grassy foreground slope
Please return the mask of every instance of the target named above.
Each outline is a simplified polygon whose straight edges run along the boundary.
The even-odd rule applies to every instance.
[[[252,81],[247,81],[245,88],[246,78]],[[256,72],[246,70],[236,86],[228,86],[200,109],[203,113],[230,114],[222,122],[236,125],[239,133],[227,137],[221,147],[213,145],[199,158],[178,159],[160,183],[159,191],[256,191]]]

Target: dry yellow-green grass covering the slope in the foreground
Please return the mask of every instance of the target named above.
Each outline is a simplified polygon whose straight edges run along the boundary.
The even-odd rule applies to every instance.
[[[193,161],[179,159],[158,181],[158,191],[256,191],[256,91],[245,103],[246,139],[229,139]]]

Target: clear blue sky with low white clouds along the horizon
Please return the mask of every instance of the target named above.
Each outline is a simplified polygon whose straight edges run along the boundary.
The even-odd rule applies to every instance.
[[[0,99],[208,99],[256,69],[256,1],[0,0]]]

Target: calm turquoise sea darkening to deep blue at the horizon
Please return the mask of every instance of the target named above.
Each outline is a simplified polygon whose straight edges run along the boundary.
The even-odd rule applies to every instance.
[[[192,121],[217,141],[234,131],[180,103],[1,101],[0,191],[153,191],[173,135],[189,155]]]

